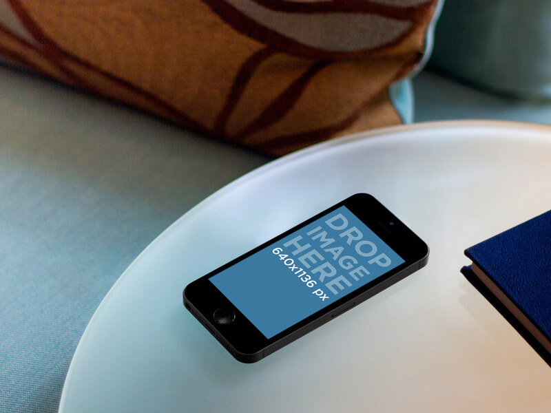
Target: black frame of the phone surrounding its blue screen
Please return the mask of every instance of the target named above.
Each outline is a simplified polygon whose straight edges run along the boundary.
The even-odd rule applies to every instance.
[[[287,237],[287,235],[297,231],[302,228],[302,226],[306,226],[342,206],[347,207],[357,216],[357,218],[362,220],[366,226],[404,259],[404,263],[384,273],[380,277],[377,277],[373,281],[368,282],[364,286],[353,290],[351,293],[344,295],[313,315],[302,319],[302,321],[299,321],[297,324],[267,339],[262,335],[262,332],[260,332],[247,317],[242,315],[238,308],[233,306],[231,301],[229,301],[229,299],[209,281],[209,278],[220,271],[224,271],[229,266],[236,264],[236,262],[245,260],[250,255],[253,255],[270,244]],[[233,357],[236,357],[236,359],[240,361],[252,362],[264,357],[264,349],[269,348],[269,352],[277,350],[321,324],[324,324],[326,321],[329,321],[331,318],[335,317],[335,315],[344,313],[343,308],[344,310],[347,309],[346,304],[352,302],[354,304],[359,304],[368,297],[378,293],[380,290],[390,286],[398,279],[402,279],[409,273],[413,273],[413,271],[416,271],[426,264],[427,258],[428,246],[415,235],[413,231],[393,215],[391,211],[388,211],[388,209],[372,195],[357,193],[333,205],[333,207],[314,215],[308,220],[293,226],[293,228],[253,248],[240,257],[231,260],[207,275],[196,279],[196,281],[191,282],[183,292],[184,304],[186,308],[211,331],[216,339],[229,350]],[[393,281],[393,279],[395,280]],[[236,313],[236,319],[231,324],[222,325],[214,321],[214,311],[220,307],[232,308]],[[278,343],[280,345],[278,345]]]

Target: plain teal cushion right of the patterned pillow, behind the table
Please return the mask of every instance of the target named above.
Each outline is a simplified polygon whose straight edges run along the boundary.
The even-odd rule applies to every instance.
[[[521,98],[551,98],[551,1],[446,0],[430,65]]]

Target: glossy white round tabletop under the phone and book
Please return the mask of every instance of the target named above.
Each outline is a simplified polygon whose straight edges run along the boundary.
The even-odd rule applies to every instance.
[[[551,209],[551,127],[463,121],[331,140],[183,215],[129,266],[74,354],[60,412],[550,412],[551,369],[459,273],[466,247]],[[428,266],[251,365],[182,290],[367,192],[430,246]]]

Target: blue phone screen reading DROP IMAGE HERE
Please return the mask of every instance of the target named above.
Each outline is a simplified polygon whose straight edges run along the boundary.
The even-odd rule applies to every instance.
[[[339,207],[210,281],[269,339],[403,262]]]

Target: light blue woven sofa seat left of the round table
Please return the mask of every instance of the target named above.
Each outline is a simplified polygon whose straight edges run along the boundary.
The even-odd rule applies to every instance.
[[[54,413],[125,268],[271,157],[1,65],[0,113],[0,413]]]

